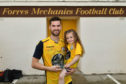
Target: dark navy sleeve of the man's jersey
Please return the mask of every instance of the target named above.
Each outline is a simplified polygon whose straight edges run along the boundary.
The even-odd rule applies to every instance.
[[[35,52],[33,54],[33,57],[40,59],[42,57],[42,54],[43,54],[43,42],[40,41],[35,48]]]

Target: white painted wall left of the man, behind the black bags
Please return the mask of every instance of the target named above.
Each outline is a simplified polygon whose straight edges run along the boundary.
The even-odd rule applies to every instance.
[[[43,74],[31,68],[36,44],[46,38],[46,18],[0,18],[1,69],[20,69],[24,74]]]

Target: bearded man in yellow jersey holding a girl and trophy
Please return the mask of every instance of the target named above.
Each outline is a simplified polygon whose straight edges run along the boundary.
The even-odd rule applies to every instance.
[[[32,67],[46,72],[46,84],[58,84],[59,74],[64,63],[64,42],[59,38],[61,27],[61,19],[53,17],[50,19],[49,29],[51,36],[41,40],[36,46],[33,58]],[[39,63],[42,57],[44,64]],[[67,74],[73,73],[71,69]],[[65,84],[72,84],[70,75],[65,77]]]

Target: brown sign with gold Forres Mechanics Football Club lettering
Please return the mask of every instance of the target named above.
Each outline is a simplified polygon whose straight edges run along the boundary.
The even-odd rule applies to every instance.
[[[126,17],[126,6],[0,6],[0,17]]]

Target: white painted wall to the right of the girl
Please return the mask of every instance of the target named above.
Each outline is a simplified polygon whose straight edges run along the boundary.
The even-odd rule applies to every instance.
[[[83,17],[80,28],[83,73],[126,73],[126,18]]]

